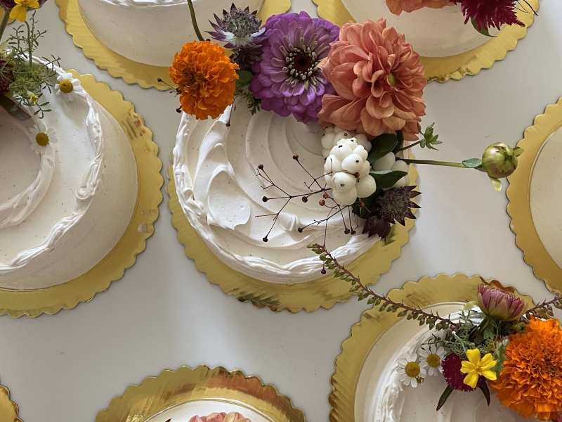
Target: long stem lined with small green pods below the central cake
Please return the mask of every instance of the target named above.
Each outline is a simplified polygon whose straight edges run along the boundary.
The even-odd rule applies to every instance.
[[[386,312],[397,312],[398,309],[402,309],[402,311],[398,312],[398,316],[406,316],[407,319],[417,319],[419,321],[419,325],[428,324],[429,328],[435,327],[437,330],[457,328],[459,325],[448,318],[443,318],[438,314],[433,314],[433,312],[425,312],[419,308],[404,305],[404,302],[395,302],[388,298],[388,296],[377,295],[377,293],[374,293],[373,290],[361,283],[361,280],[358,277],[351,274],[351,271],[346,269],[344,265],[339,264],[336,257],[334,257],[332,252],[329,252],[324,245],[315,243],[313,245],[308,245],[308,248],[320,255],[320,260],[324,261],[324,264],[328,269],[334,270],[334,277],[351,283],[349,291],[352,293],[357,292],[356,294],[358,295],[358,300],[369,298],[367,300],[369,305],[381,305],[379,312],[383,312],[385,309]]]

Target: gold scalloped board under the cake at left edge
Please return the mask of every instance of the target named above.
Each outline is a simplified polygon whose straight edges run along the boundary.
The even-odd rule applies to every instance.
[[[40,290],[0,289],[0,315],[13,318],[22,315],[36,317],[43,313],[56,314],[60,309],[72,309],[79,302],[89,302],[96,293],[121,279],[125,269],[136,261],[136,255],[146,247],[146,239],[152,236],[152,224],[158,218],[158,205],[162,202],[160,188],[164,179],[160,175],[162,162],[157,157],[158,146],[152,142],[152,132],[145,127],[143,117],[135,113],[133,104],[124,101],[119,91],[112,91],[105,82],[97,82],[92,75],[80,75],[82,87],[119,122],[129,138],[135,155],[138,196],[136,206],[121,240],[115,248],[90,269],[74,280]]]

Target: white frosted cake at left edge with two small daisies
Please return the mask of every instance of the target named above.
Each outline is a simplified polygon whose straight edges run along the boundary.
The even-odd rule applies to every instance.
[[[53,111],[43,123],[58,137],[57,152],[50,157],[56,171],[51,177],[39,171],[41,198],[34,209],[17,224],[0,227],[0,288],[26,290],[69,281],[103,259],[129,224],[137,191],[129,141],[84,89],[77,94],[77,101],[65,103],[44,93]],[[0,168],[0,178],[17,186],[22,183],[18,172]],[[123,193],[120,179],[128,187]],[[17,199],[4,202],[16,217]],[[107,215],[112,218],[104,222]]]

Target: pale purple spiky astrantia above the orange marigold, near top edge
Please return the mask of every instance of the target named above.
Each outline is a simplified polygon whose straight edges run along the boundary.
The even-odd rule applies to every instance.
[[[257,11],[250,13],[248,7],[244,10],[236,8],[233,3],[230,6],[230,13],[223,10],[222,19],[215,15],[216,23],[209,20],[216,32],[208,33],[217,41],[226,42],[227,49],[259,47],[267,37],[263,35],[266,28],[260,28],[261,19],[256,17],[257,13]]]

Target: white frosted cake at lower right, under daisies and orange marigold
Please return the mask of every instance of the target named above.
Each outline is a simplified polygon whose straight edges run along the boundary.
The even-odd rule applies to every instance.
[[[445,316],[449,312],[452,321],[459,320],[461,304],[442,303],[431,306],[433,312]],[[478,311],[478,309],[475,309]],[[480,321],[483,314],[473,314]],[[437,402],[447,383],[442,374],[426,376],[416,388],[403,385],[398,378],[398,359],[404,354],[419,354],[420,345],[440,335],[416,321],[400,321],[387,331],[370,352],[358,384],[355,402],[355,420],[374,422],[437,421],[437,422],[518,422],[525,421],[518,414],[504,407],[492,392],[490,407],[480,390],[454,391],[439,411]],[[377,359],[378,364],[374,364]],[[362,378],[362,379],[361,379]],[[359,400],[362,400],[359,401]]]

